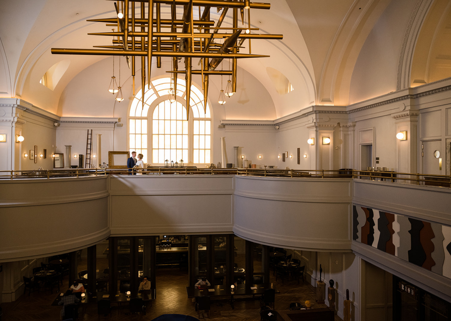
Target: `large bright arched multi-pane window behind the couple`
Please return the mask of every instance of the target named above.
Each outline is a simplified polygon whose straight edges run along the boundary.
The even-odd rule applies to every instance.
[[[152,165],[181,159],[185,164],[210,164],[212,117],[208,103],[204,111],[201,90],[191,85],[187,120],[184,80],[177,79],[176,101],[172,103],[169,101],[170,77],[154,78],[150,84],[144,98],[138,90],[130,104],[129,151],[143,154],[144,162]]]

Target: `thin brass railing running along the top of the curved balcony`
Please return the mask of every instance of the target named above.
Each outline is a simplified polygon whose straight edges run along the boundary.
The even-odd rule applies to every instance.
[[[416,185],[451,186],[451,175],[413,174],[374,170],[290,170],[250,168],[152,167],[129,172],[127,168],[64,169],[64,170],[2,170],[0,179],[51,179],[99,175],[244,175],[288,178],[352,178],[370,181],[402,182]]]

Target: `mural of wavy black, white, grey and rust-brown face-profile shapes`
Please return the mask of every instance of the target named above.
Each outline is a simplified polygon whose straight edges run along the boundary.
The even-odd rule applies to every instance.
[[[451,226],[354,205],[352,238],[451,279]]]

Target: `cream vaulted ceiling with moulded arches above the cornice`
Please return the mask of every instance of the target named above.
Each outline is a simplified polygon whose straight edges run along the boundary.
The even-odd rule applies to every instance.
[[[271,57],[239,60],[239,68],[266,88],[276,117],[308,105],[348,105],[367,96],[396,90],[396,68],[404,48],[402,44],[422,2],[423,8],[432,9],[425,18],[428,29],[423,32],[423,38],[421,33],[419,36],[423,49],[416,57],[419,67],[412,68],[415,73],[412,77],[416,79],[418,75],[424,82],[449,77],[450,3],[446,0],[270,1],[270,10],[251,11],[252,27],[259,28],[258,33],[283,34],[284,37],[282,40],[253,40],[253,54]],[[163,15],[169,14],[169,5],[161,5],[161,8]],[[211,12],[212,17],[220,14],[216,9]],[[194,15],[198,15],[198,10],[194,10]],[[114,27],[86,20],[114,16],[114,4],[109,0],[2,1],[0,97],[22,98],[62,116],[60,99],[70,82],[83,70],[111,57],[52,55],[51,48],[109,45],[110,39],[87,33],[110,32]],[[230,22],[228,17],[224,23]],[[430,34],[435,35],[433,44],[428,43]],[[248,52],[247,41],[244,46],[243,52]],[[424,62],[424,56],[436,66],[434,72],[426,71],[430,66]],[[379,75],[381,61],[386,65]],[[39,83],[52,66],[62,70],[63,65],[64,72],[57,83],[55,80],[53,90]],[[293,95],[281,95],[274,82],[274,70],[288,79],[295,89]],[[376,83],[367,73],[375,75]],[[368,79],[368,83],[362,79]],[[415,83],[414,79],[411,83]]]

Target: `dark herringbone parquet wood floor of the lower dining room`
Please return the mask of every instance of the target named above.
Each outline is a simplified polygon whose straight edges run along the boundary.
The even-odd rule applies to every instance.
[[[185,287],[188,285],[187,272],[179,271],[178,269],[161,269],[157,271],[156,282],[156,300],[152,303],[152,306],[149,305],[147,307],[147,314],[145,316],[127,315],[128,306],[124,305],[121,307],[113,307],[111,320],[152,320],[157,316],[166,313],[179,313],[194,316],[196,318],[198,317],[197,312],[194,311],[194,303],[191,299],[187,298],[186,295]],[[275,277],[272,277],[271,282],[275,283],[277,289],[281,292],[276,294],[276,311],[288,310],[291,302],[303,302],[305,300],[311,300],[312,303],[315,302],[315,289],[308,284],[302,284],[302,282],[300,282],[298,285],[297,281],[287,279],[285,279],[285,282],[282,284],[280,279],[276,282]],[[61,288],[61,291],[66,289],[68,284],[67,276],[65,277],[63,284],[64,286]],[[51,306],[55,297],[55,291],[53,294],[51,294],[50,291],[32,292],[30,296],[28,296],[28,293],[22,295],[15,302],[2,303],[2,321],[57,321],[60,318],[61,307]],[[314,304],[313,307],[326,307],[326,305]],[[232,309],[225,297],[223,302],[212,302],[210,319],[214,321],[259,321],[259,312],[259,300],[235,300],[235,309]],[[80,316],[78,320],[98,320],[97,306],[86,305],[86,308],[80,307]],[[341,321],[338,316],[335,317],[335,320]]]

